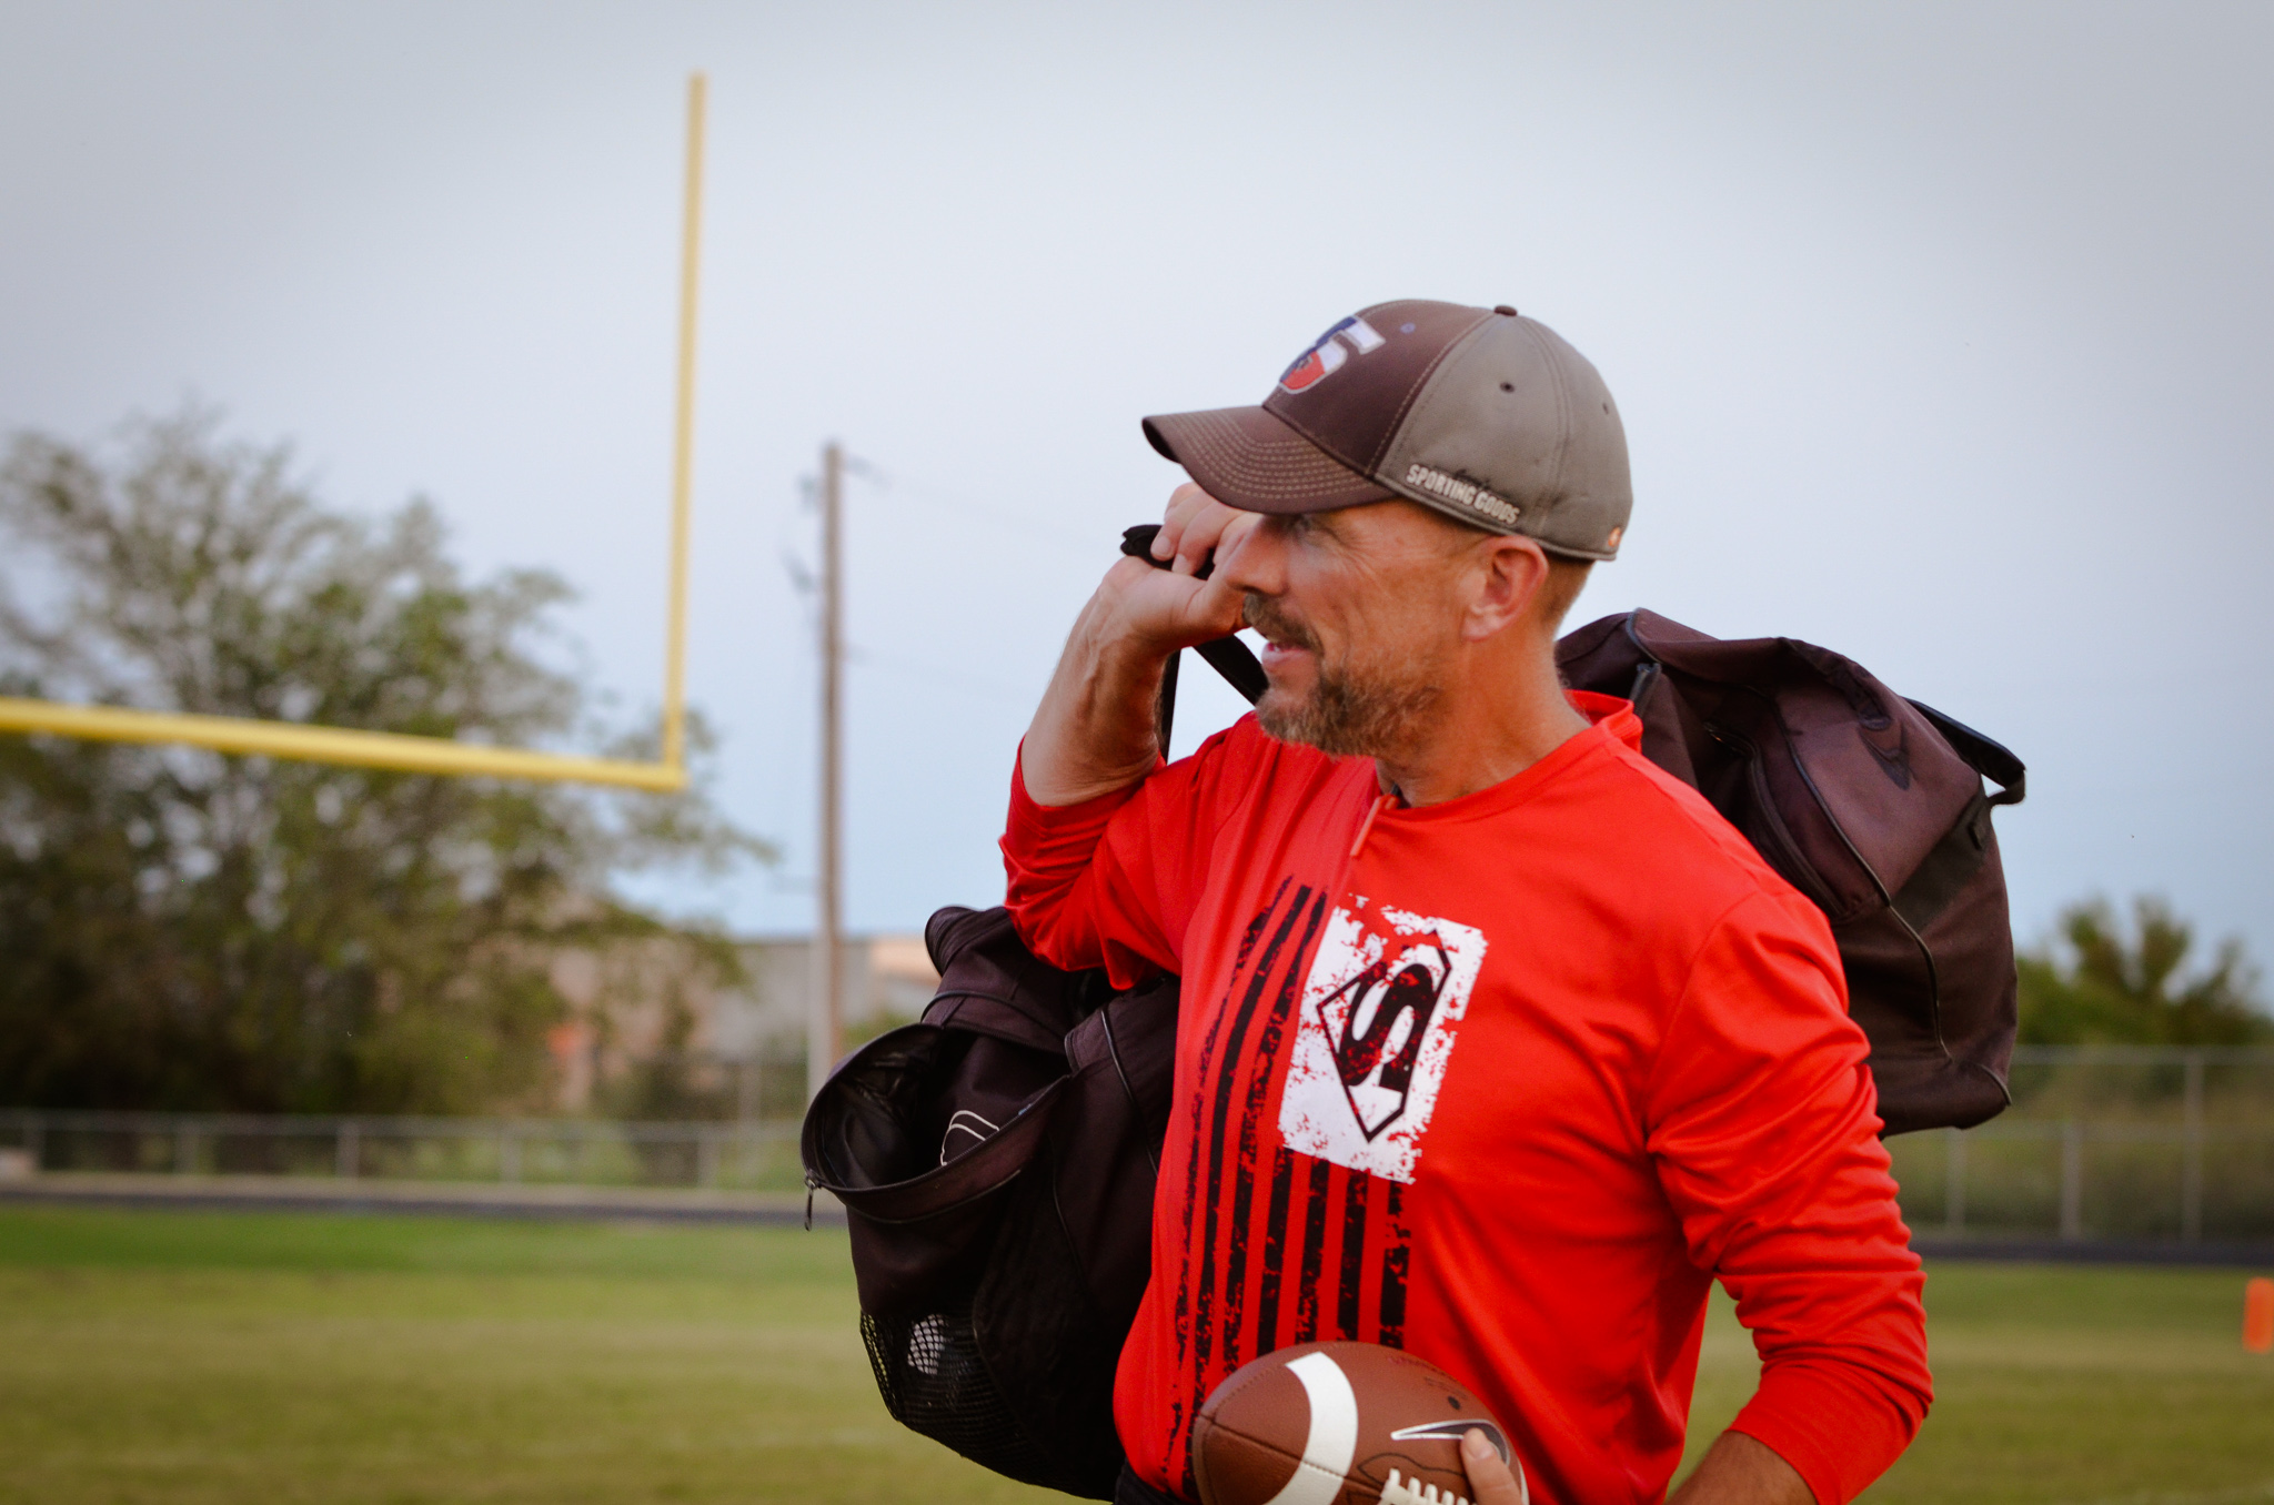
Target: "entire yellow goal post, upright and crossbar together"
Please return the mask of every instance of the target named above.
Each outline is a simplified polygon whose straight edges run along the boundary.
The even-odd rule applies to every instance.
[[[687,787],[687,514],[694,491],[696,443],[696,280],[703,239],[703,114],[705,80],[687,80],[687,211],[680,227],[680,359],[678,409],[671,430],[671,605],[664,625],[664,746],[653,764],[614,757],[573,757],[489,748],[448,737],[357,732],[298,721],[250,716],[191,716],[136,712],[111,705],[64,705],[0,696],[0,732],[80,737],[89,741],[161,741],[289,757],[357,768],[455,773],[578,784],[619,784],[671,793]]]

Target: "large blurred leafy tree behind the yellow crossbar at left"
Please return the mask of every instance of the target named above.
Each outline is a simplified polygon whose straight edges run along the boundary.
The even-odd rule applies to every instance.
[[[546,573],[468,584],[412,502],[325,512],[209,414],[0,462],[0,693],[591,741],[532,648]],[[691,746],[709,750],[700,727]],[[653,737],[614,755],[653,757]],[[564,946],[664,934],[632,866],[769,857],[700,791],[596,793],[0,737],[0,1103],[468,1112],[548,1082]],[[732,982],[723,937],[682,932]]]

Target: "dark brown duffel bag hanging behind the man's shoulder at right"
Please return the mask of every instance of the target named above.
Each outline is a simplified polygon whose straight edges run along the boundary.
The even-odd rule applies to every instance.
[[[1721,641],[1628,612],[1567,634],[1555,664],[1571,689],[1633,700],[1642,755],[1824,909],[1885,1132],[1999,1114],[2015,971],[1990,809],[2022,803],[2022,759],[1790,637]]]

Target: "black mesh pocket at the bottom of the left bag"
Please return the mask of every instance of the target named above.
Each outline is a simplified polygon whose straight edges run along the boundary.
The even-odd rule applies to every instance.
[[[894,1421],[996,1473],[1064,1489],[980,1362],[969,1303],[914,1319],[862,1312],[860,1334]]]

